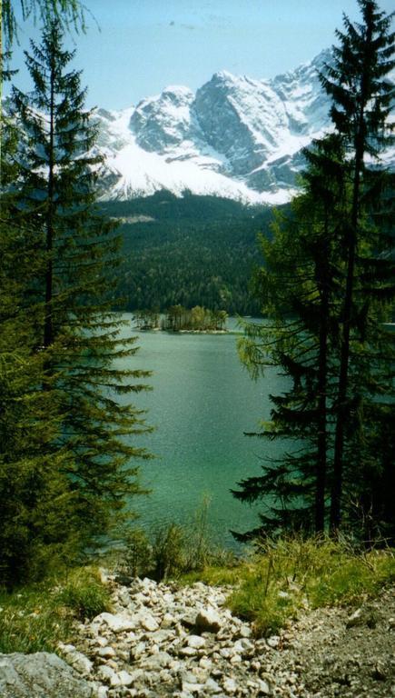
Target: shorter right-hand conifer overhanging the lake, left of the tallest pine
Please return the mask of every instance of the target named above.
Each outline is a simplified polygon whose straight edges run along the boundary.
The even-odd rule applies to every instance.
[[[241,343],[252,372],[272,364],[290,379],[283,394],[271,395],[272,419],[260,435],[291,447],[233,492],[242,501],[272,501],[271,515],[261,516],[265,533],[325,527],[347,165],[336,135],[315,142],[305,156],[304,192],[292,203],[291,219],[278,217],[272,240],[261,241],[265,267],[257,282],[268,320],[247,325],[249,338]]]

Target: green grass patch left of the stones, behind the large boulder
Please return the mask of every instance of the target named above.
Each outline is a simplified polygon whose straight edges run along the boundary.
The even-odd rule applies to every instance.
[[[0,591],[0,653],[54,652],[73,640],[75,619],[110,607],[94,567],[76,568],[13,593]]]

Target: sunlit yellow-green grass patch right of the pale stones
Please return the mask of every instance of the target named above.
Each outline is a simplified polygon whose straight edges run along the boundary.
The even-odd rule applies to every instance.
[[[355,553],[329,539],[267,543],[236,567],[206,567],[183,583],[232,584],[227,604],[253,623],[255,633],[277,633],[301,608],[355,604],[395,583],[390,551]]]

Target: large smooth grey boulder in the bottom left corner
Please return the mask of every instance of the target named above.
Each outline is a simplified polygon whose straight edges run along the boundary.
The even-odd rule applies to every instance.
[[[0,654],[2,698],[93,698],[94,687],[53,653]]]

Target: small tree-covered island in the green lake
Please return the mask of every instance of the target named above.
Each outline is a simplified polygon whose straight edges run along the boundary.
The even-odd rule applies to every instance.
[[[227,332],[225,310],[211,310],[195,305],[192,309],[183,305],[171,305],[161,315],[153,310],[137,310],[133,313],[134,326],[138,330],[164,330],[166,332],[215,333]]]

